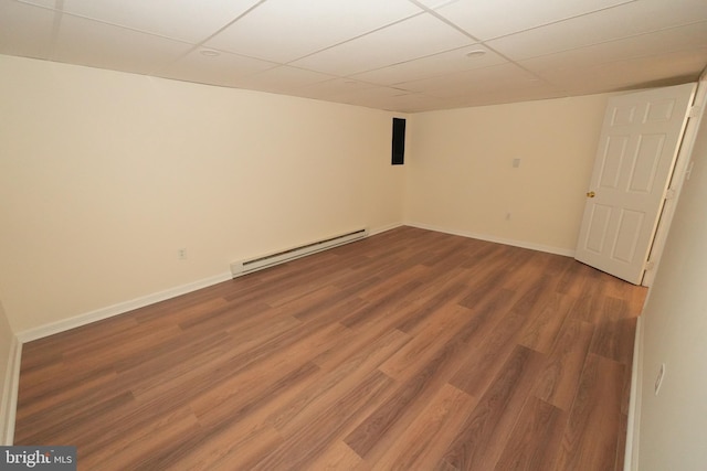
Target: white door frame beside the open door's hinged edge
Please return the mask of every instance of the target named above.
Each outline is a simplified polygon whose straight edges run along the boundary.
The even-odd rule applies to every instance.
[[[689,170],[692,169],[692,154],[695,147],[695,139],[697,138],[697,130],[699,124],[705,115],[705,108],[707,108],[707,69],[703,72],[697,84],[697,92],[693,100],[693,106],[689,113],[689,119],[685,127],[685,133],[683,135],[683,141],[680,143],[679,151],[677,153],[677,160],[675,161],[675,168],[673,169],[673,175],[671,178],[671,184],[668,186],[668,197],[663,205],[663,212],[658,220],[658,225],[653,236],[653,245],[648,254],[648,263],[646,265],[646,271],[643,275],[643,281],[641,285],[650,287],[653,285],[655,274],[663,255],[663,248],[667,239],[668,232],[671,229],[671,223],[675,215],[675,206],[679,199],[680,191],[683,190],[683,183],[689,179]]]

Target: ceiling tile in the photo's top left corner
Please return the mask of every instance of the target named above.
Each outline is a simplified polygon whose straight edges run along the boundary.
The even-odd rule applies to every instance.
[[[56,14],[60,13],[30,4],[0,1],[0,54],[48,58]]]

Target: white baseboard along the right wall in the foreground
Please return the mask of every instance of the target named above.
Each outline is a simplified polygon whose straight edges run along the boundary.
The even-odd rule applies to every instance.
[[[636,336],[633,341],[633,363],[631,367],[631,396],[626,427],[626,449],[624,471],[639,471],[639,432],[641,425],[641,393],[643,381],[643,327],[642,318],[636,320]]]

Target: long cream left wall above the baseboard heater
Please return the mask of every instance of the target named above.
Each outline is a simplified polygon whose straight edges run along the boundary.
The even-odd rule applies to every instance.
[[[0,104],[18,333],[402,222],[389,113],[9,56]]]

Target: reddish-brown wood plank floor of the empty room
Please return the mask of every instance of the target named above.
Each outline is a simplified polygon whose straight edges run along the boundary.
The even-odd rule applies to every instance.
[[[400,227],[25,344],[15,445],[81,470],[619,471],[645,293]]]

